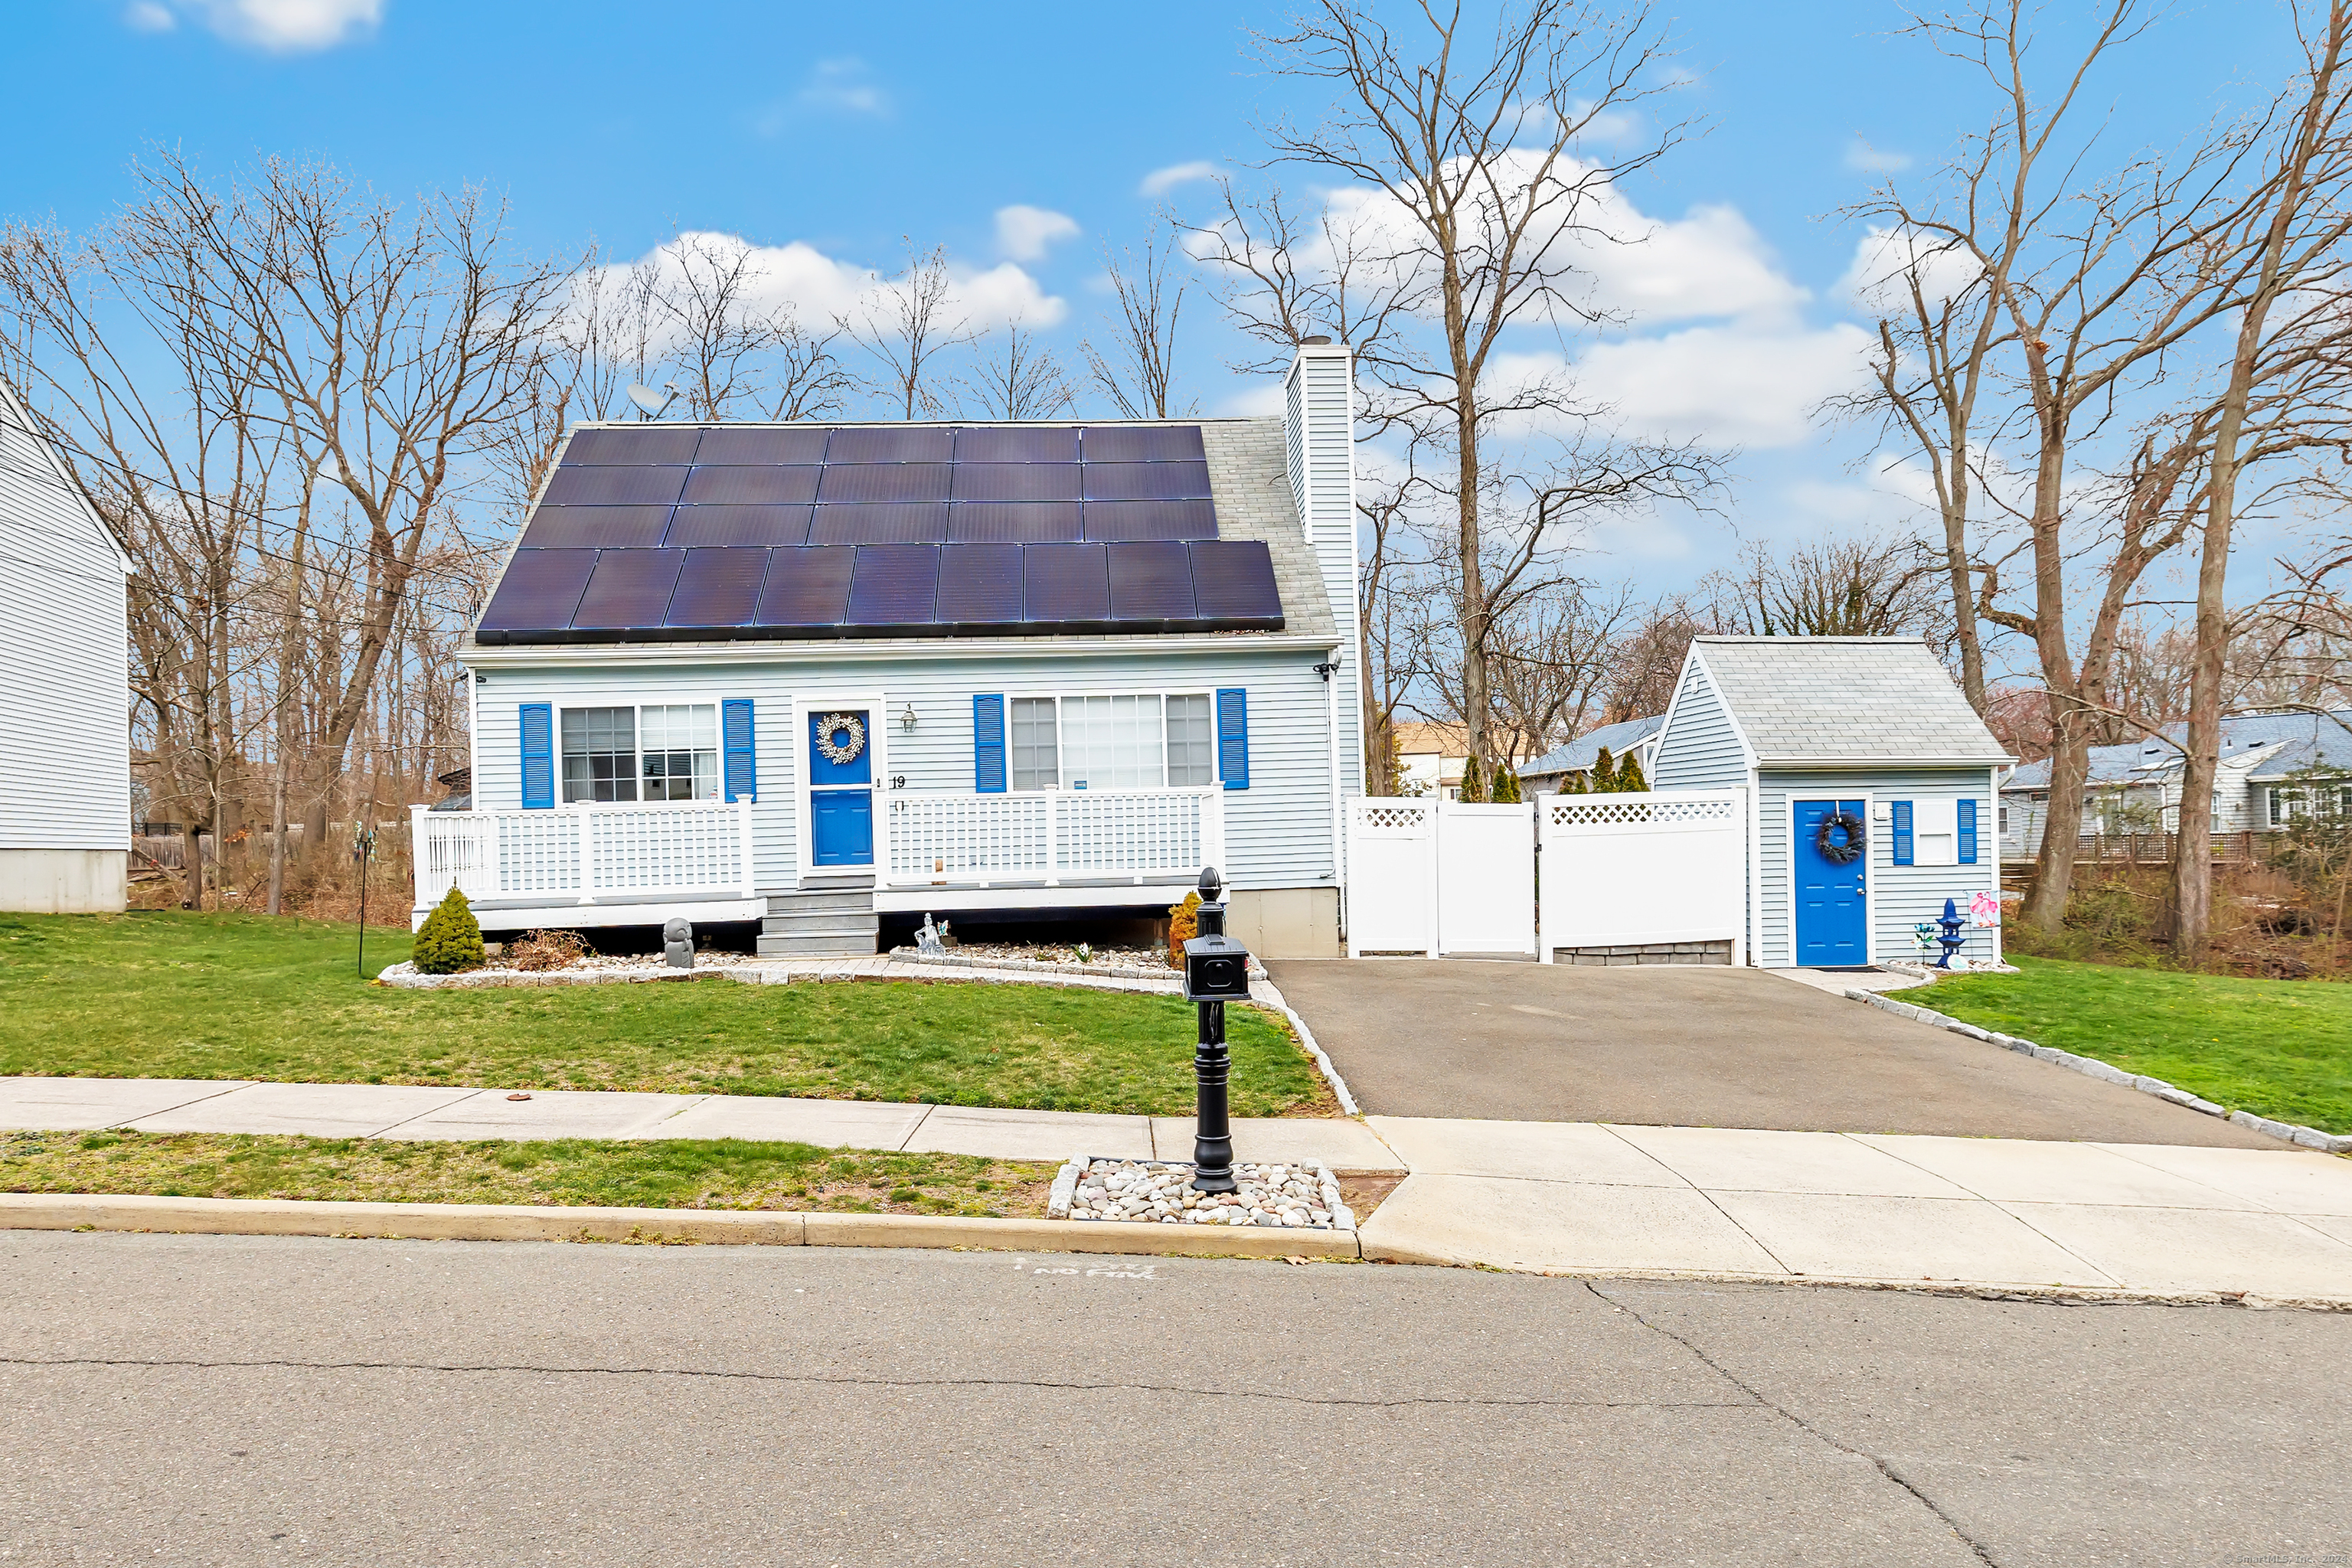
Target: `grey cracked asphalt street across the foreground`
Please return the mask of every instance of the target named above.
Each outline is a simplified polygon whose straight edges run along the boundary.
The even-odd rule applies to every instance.
[[[5,1561],[2352,1561],[2345,1314],[835,1248],[0,1260]]]

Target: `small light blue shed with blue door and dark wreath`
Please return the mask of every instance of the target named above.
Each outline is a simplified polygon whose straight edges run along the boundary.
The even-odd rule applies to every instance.
[[[1999,896],[2013,762],[1917,637],[1696,637],[1651,788],[1745,790],[1750,961],[1842,969],[1917,959],[1947,898]],[[1966,938],[1999,959],[1999,926]]]

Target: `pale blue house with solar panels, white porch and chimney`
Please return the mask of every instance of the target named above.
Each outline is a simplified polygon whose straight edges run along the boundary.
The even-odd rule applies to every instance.
[[[597,423],[567,437],[463,663],[473,795],[416,922],[1150,912],[1216,865],[1265,957],[1341,947],[1359,795],[1348,348],[1284,414]]]

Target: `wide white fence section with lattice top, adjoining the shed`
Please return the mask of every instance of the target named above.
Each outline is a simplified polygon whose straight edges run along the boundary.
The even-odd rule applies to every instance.
[[[1748,797],[1545,795],[1543,961],[1559,947],[1731,940],[1748,961]]]

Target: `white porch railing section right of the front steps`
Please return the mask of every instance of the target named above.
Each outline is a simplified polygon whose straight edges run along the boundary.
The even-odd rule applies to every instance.
[[[877,802],[882,886],[1190,882],[1225,863],[1221,790],[896,790]]]

